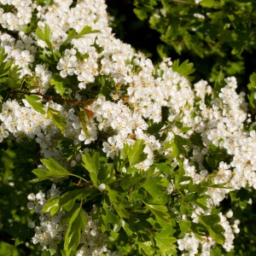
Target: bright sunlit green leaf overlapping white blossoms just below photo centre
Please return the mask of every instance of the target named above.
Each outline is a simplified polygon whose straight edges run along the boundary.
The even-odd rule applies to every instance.
[[[147,159],[147,154],[143,153],[145,144],[143,140],[137,140],[133,146],[129,146],[128,159],[130,166],[135,166]]]

